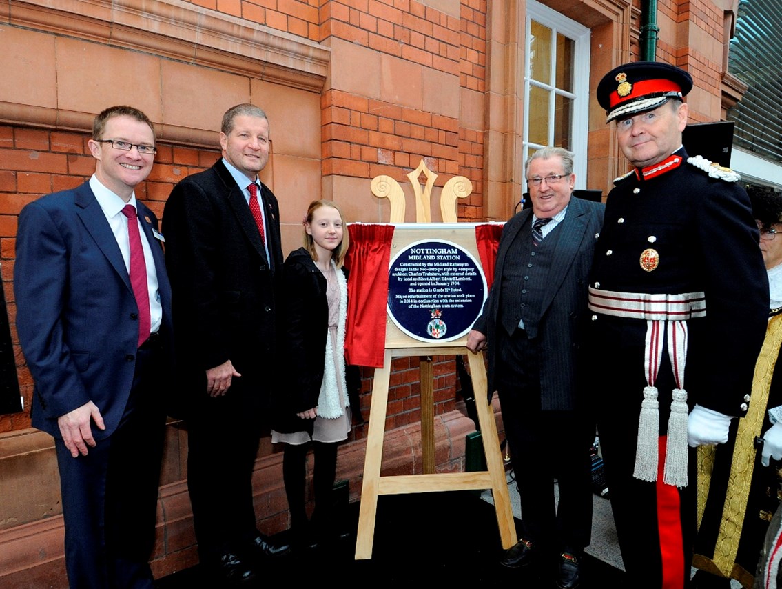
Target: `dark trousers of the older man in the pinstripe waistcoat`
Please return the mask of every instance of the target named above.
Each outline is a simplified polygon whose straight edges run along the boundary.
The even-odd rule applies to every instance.
[[[521,497],[522,537],[580,555],[592,532],[594,425],[576,411],[541,410],[536,342],[521,330],[503,340],[497,389]],[[559,486],[556,506],[554,479]]]

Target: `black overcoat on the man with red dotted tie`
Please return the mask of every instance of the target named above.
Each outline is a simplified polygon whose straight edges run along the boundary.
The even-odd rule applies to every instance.
[[[267,186],[261,196],[271,264],[222,161],[174,186],[163,211],[182,417],[209,411],[206,370],[227,360],[242,374],[231,384],[239,409],[267,410],[276,388],[282,245],[277,199]]]

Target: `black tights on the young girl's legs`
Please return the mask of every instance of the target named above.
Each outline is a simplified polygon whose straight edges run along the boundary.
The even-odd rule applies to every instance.
[[[315,512],[313,520],[321,531],[332,524],[332,489],[337,468],[337,444],[312,442],[315,468]],[[291,513],[291,528],[303,533],[307,528],[307,509],[304,500],[307,488],[307,451],[310,443],[294,446],[285,444],[282,460],[282,480],[285,482],[285,496]]]

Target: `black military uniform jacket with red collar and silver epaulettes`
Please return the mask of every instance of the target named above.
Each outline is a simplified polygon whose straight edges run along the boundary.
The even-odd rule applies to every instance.
[[[703,291],[706,316],[687,322],[687,400],[691,407],[699,403],[742,416],[768,317],[758,230],[738,182],[712,178],[687,163],[683,148],[675,155],[680,164],[662,174],[643,179],[633,172],[615,182],[595,249],[592,286],[671,295]],[[652,269],[640,263],[647,249],[658,256]],[[609,387],[622,383],[622,397],[638,399],[640,408],[646,320],[596,313],[590,327],[601,375],[596,378]],[[661,368],[658,378],[673,378],[670,368]],[[660,395],[662,426],[669,391],[661,388]]]

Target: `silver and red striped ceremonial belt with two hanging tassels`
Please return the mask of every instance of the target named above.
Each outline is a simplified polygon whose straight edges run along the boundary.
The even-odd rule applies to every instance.
[[[589,308],[595,313],[646,320],[644,372],[647,385],[638,419],[638,444],[633,476],[648,482],[658,477],[659,411],[655,386],[662,354],[667,348],[676,383],[671,392],[663,482],[687,486],[687,391],[684,367],[687,363],[687,320],[706,316],[703,292],[680,295],[647,295],[636,292],[601,291],[590,287]]]

